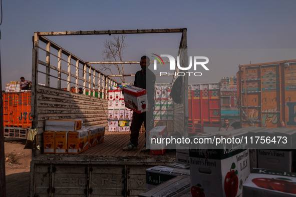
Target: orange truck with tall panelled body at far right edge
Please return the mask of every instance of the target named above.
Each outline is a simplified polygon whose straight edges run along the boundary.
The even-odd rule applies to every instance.
[[[241,126],[296,128],[296,59],[239,65]]]

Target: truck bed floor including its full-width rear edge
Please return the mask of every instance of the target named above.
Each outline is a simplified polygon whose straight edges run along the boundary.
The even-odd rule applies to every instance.
[[[135,161],[135,162],[174,162],[175,150],[166,150],[163,155],[152,155],[150,151],[141,152],[145,143],[145,133],[139,134],[137,150],[123,151],[122,147],[129,143],[130,132],[105,132],[104,142],[97,144],[80,154],[38,154],[33,160],[80,160],[96,162]],[[155,163],[156,164],[156,163]]]

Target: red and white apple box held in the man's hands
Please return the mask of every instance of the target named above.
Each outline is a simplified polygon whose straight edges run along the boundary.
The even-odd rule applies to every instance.
[[[125,106],[137,113],[147,111],[147,95],[146,89],[140,87],[128,86],[124,87],[124,103]]]

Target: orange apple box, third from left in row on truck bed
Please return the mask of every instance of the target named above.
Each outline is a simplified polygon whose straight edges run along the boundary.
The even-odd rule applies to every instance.
[[[89,148],[89,129],[68,133],[68,153],[78,154]]]

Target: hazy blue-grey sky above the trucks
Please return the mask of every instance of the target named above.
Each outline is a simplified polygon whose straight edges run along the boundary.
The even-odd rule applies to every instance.
[[[35,31],[187,28],[188,48],[296,48],[295,0],[9,0],[3,1],[2,88],[20,76],[31,79]],[[138,60],[147,48],[178,47],[180,34],[127,35],[125,60]],[[49,37],[85,61],[101,59],[108,35]],[[293,51],[293,50],[292,50]],[[281,58],[282,57],[282,58]],[[248,56],[239,64],[290,58]],[[296,58],[291,56],[291,58]],[[234,75],[238,61],[198,82]],[[138,69],[138,65],[134,65]],[[221,65],[219,65],[221,66]],[[215,71],[216,70],[216,71]],[[215,81],[212,81],[212,80]]]

